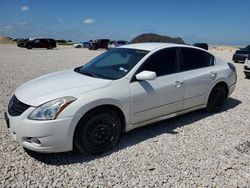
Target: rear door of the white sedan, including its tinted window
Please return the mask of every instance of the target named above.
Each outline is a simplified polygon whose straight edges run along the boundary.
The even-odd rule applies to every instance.
[[[184,109],[203,105],[217,77],[214,57],[203,50],[185,47],[180,48],[180,54],[185,86]]]

